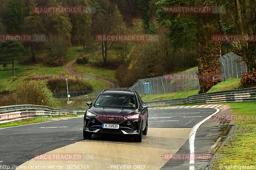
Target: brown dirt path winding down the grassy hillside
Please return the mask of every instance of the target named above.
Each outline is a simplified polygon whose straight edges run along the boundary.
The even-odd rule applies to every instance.
[[[101,49],[98,50],[98,51],[95,51],[93,53],[84,55],[84,56],[88,57],[88,56],[99,54],[99,53],[101,53]],[[68,74],[77,74],[78,72],[74,69],[74,64],[75,63],[76,63],[76,58],[71,60],[67,64],[65,64],[63,66],[63,70],[65,70]],[[83,77],[86,77],[86,78],[94,78],[94,79],[104,81],[105,83],[108,84],[110,89],[118,87],[118,83],[115,80],[111,80],[111,79],[107,79],[107,78],[94,77],[94,76],[85,75],[85,74],[82,74],[82,73],[79,73],[79,74],[81,74]]]

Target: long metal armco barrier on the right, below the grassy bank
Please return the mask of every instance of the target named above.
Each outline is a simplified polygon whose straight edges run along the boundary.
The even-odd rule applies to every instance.
[[[256,101],[256,87],[196,94],[182,99],[145,102],[149,107],[184,105],[188,103],[210,104],[226,102]]]

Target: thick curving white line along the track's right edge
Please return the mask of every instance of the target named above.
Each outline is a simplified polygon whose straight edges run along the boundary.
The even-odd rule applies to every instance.
[[[195,153],[195,146],[194,146],[194,143],[195,143],[195,137],[196,137],[196,130],[205,122],[207,121],[208,119],[210,119],[213,115],[216,115],[220,109],[218,108],[215,108],[217,111],[215,113],[213,113],[212,115],[206,117],[204,120],[202,120],[201,122],[197,123],[190,131],[190,134],[189,134],[189,149],[190,149],[190,161],[189,161],[189,170],[194,170],[195,169],[195,166],[194,166],[194,163],[195,163],[195,160],[194,160],[194,156],[193,154]],[[191,159],[192,157],[192,159]]]

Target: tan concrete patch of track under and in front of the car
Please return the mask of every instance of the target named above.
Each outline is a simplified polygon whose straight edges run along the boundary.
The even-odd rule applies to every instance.
[[[115,139],[111,140],[111,137],[106,138],[105,135],[93,136],[91,140],[70,144],[49,153],[80,153],[83,155],[82,161],[68,161],[67,164],[89,165],[90,169],[111,169],[111,165],[112,169],[114,169],[114,165],[131,165],[131,169],[137,169],[137,166],[133,168],[134,165],[141,165],[142,167],[144,165],[145,169],[160,169],[167,162],[163,159],[163,154],[177,152],[188,140],[190,130],[191,128],[184,130],[148,128],[148,136],[143,137],[142,143],[133,142],[132,137],[129,137],[127,141],[124,137],[113,136]],[[166,137],[159,137],[159,133],[165,134]],[[109,161],[106,161],[107,159]],[[51,161],[50,163],[49,161],[31,159],[22,165],[47,166],[48,164],[58,165],[59,163],[58,161]]]

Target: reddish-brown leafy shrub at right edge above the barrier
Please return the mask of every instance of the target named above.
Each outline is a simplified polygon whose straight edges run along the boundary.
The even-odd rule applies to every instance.
[[[256,70],[252,69],[251,74],[244,72],[240,82],[241,88],[256,87]]]

